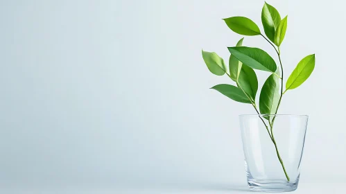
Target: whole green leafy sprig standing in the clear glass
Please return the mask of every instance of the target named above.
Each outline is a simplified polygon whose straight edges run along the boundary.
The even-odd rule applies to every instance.
[[[259,26],[257,26],[254,21],[246,17],[229,17],[223,20],[232,31],[239,35],[259,35],[263,37],[273,46],[277,53],[279,67],[266,51],[260,48],[243,46],[242,38],[236,46],[228,47],[231,53],[229,60],[230,73],[228,73],[223,58],[220,58],[216,53],[202,51],[202,57],[211,73],[214,73],[216,76],[227,74],[227,76],[236,83],[236,86],[222,84],[211,87],[211,89],[216,89],[221,94],[237,102],[252,104],[257,114],[259,114],[259,118],[261,118],[271,141],[273,141],[275,145],[277,157],[282,165],[286,179],[289,182],[290,178],[284,167],[284,162],[279,155],[277,142],[275,141],[273,133],[275,115],[281,104],[282,96],[286,91],[299,87],[309,78],[315,67],[315,55],[308,55],[297,64],[291,76],[288,77],[286,89],[284,91],[284,68],[282,65],[280,46],[286,35],[287,16],[281,19],[279,12],[273,6],[265,2],[261,12],[261,21],[266,36],[261,33]],[[264,82],[259,95],[259,109],[257,109],[256,103],[258,80],[254,69],[270,72],[270,76],[267,78],[266,82]],[[268,116],[263,116],[263,119],[260,114]],[[265,120],[268,121],[268,125]]]

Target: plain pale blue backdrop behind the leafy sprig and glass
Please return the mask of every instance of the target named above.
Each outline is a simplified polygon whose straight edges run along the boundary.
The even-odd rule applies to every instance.
[[[345,5],[268,3],[288,14],[286,78],[316,55],[311,78],[279,110],[310,116],[301,180],[345,183]],[[238,115],[254,110],[209,89],[230,80],[209,73],[201,49],[227,60],[226,47],[242,36],[221,19],[242,15],[261,26],[262,6],[1,1],[1,189],[245,185]],[[275,56],[261,37],[244,45]],[[268,73],[258,75],[263,84]]]

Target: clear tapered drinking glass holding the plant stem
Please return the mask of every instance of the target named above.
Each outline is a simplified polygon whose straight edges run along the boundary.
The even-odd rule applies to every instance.
[[[253,191],[295,191],[300,177],[306,115],[240,115],[248,186]]]

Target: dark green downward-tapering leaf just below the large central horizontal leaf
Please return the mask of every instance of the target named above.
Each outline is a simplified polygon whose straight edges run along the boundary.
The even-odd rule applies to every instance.
[[[239,88],[250,96],[252,102],[256,99],[257,89],[259,83],[257,80],[256,73],[250,67],[243,65],[241,67],[241,73],[239,74],[238,82],[236,82]]]

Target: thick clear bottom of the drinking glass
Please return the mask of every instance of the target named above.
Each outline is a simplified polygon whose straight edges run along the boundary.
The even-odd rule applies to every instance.
[[[248,179],[248,185],[252,191],[261,192],[291,192],[297,189],[299,177],[295,182],[283,180],[256,180]]]

